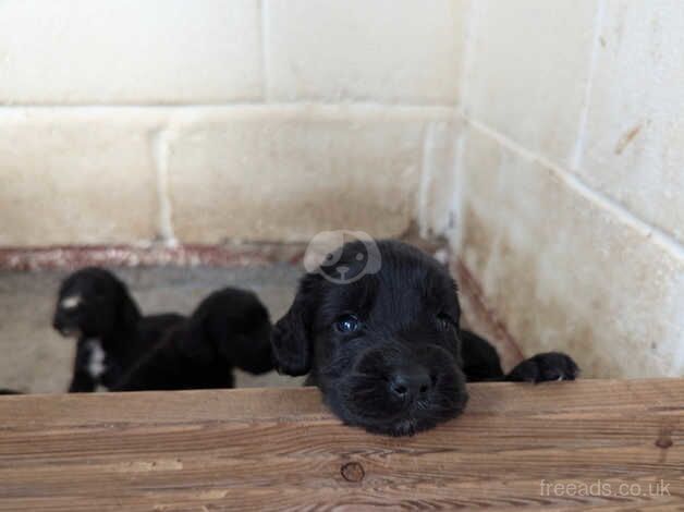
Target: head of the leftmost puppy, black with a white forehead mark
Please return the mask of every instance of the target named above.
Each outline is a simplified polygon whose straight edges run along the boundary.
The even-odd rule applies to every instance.
[[[81,269],[61,284],[52,326],[64,337],[106,337],[131,330],[141,313],[123,284],[111,272]]]

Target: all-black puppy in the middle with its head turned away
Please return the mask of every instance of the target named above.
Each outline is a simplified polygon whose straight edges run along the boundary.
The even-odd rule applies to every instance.
[[[232,388],[233,367],[252,374],[273,369],[270,336],[268,310],[254,293],[213,292],[113,390]]]

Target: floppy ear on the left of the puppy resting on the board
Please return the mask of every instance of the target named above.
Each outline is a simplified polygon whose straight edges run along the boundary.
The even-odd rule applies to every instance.
[[[301,283],[290,309],[273,326],[271,348],[278,371],[298,376],[312,369],[312,320],[317,306],[320,276],[308,273]]]

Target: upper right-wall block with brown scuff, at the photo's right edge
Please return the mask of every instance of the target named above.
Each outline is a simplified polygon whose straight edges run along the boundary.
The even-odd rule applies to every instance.
[[[610,1],[600,31],[582,179],[684,242],[684,9]]]

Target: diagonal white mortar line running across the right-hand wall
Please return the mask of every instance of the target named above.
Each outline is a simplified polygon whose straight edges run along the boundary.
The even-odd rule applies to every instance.
[[[591,188],[588,184],[582,181],[572,172],[563,169],[559,164],[549,160],[547,157],[538,155],[516,142],[510,139],[505,135],[497,132],[496,130],[476,121],[474,119],[469,119],[466,115],[463,115],[463,120],[471,125],[473,129],[479,131],[484,135],[493,138],[501,146],[505,147],[509,150],[512,150],[522,157],[538,162],[543,168],[550,170],[558,179],[560,179],[569,188],[573,190],[577,194],[579,194],[585,199],[594,203],[598,207],[602,208],[606,211],[612,214],[619,221],[623,222],[625,225],[634,229],[643,236],[650,239],[658,246],[670,253],[675,259],[684,261],[684,245],[677,242],[674,237],[672,237],[669,233],[657,228],[655,225],[649,224],[645,220],[638,218],[634,212],[630,211],[620,203],[614,199],[607,197],[599,192]]]

